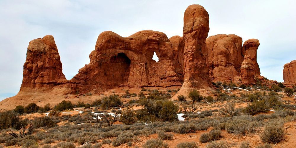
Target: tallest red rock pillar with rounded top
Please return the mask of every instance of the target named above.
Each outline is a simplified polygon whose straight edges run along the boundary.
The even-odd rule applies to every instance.
[[[184,83],[175,96],[188,95],[192,88],[210,86],[205,44],[209,30],[209,14],[204,7],[190,5],[184,12]]]

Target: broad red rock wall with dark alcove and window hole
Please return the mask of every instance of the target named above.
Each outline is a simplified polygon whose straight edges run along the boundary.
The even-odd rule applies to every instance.
[[[158,62],[152,59],[154,52]],[[90,63],[70,80],[70,88],[81,93],[116,86],[181,86],[173,57],[172,44],[162,32],[144,30],[124,38],[105,31],[89,55]]]

